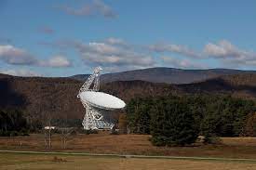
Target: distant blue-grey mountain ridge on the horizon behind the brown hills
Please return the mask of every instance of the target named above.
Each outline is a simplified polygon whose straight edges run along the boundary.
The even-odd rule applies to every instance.
[[[175,68],[148,68],[142,70],[112,72],[101,74],[101,82],[109,83],[115,81],[133,81],[141,80],[153,83],[167,84],[191,84],[215,78],[222,75],[232,75],[238,73],[256,73],[256,71],[242,71],[233,69],[207,69],[207,70],[183,70]],[[89,74],[76,74],[70,78],[85,81]]]

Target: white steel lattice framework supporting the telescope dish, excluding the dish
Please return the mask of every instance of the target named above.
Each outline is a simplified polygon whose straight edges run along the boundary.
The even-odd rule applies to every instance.
[[[88,77],[88,80],[84,83],[84,85],[81,86],[79,93],[77,95],[77,98],[80,98],[80,94],[82,92],[86,91],[99,91],[100,89],[100,73],[102,69],[101,67],[96,67],[94,69],[93,74],[91,74]],[[93,85],[92,89],[89,89],[89,87]],[[92,106],[90,103],[82,100],[80,98],[84,108],[86,108],[86,114],[83,120],[83,126],[84,129],[112,129],[114,127],[114,124],[110,121],[104,120],[103,113],[104,110],[101,110],[101,108],[96,108],[95,106]]]

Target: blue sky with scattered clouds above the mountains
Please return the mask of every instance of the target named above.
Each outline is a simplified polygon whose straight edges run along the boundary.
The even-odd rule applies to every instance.
[[[0,72],[256,70],[255,0],[0,0]]]

